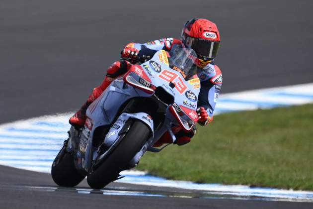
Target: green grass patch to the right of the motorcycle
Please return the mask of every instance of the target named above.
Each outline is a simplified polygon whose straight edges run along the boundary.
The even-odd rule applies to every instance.
[[[313,190],[313,104],[217,115],[138,166],[174,180]]]

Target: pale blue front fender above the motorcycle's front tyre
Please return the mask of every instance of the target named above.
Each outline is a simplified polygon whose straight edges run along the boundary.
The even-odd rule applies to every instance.
[[[152,136],[154,136],[154,123],[152,117],[145,112],[137,112],[137,113],[122,113],[115,121],[115,123],[110,128],[109,132],[106,134],[104,139],[104,144],[110,147],[116,139],[118,139],[120,132],[124,131],[123,127],[126,121],[129,118],[134,118],[143,121],[148,125],[152,132]]]

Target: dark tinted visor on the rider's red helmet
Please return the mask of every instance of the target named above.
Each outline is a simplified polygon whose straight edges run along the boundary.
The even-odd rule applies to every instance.
[[[212,60],[216,57],[219,51],[220,41],[211,41],[194,37],[187,37],[186,39],[186,43],[189,43],[188,47],[195,50],[199,59]]]

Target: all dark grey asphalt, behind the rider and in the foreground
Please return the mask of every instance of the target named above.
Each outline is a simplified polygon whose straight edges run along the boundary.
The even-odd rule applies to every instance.
[[[0,123],[78,108],[126,43],[179,37],[192,17],[219,26],[223,42],[216,63],[223,72],[223,93],[313,82],[312,8],[311,0],[1,0]],[[43,191],[32,187],[55,187],[49,175],[3,166],[0,171],[0,208],[313,207]]]

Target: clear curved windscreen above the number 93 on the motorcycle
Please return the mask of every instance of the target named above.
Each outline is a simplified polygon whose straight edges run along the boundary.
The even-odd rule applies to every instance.
[[[169,52],[169,67],[178,71],[186,81],[192,79],[197,73],[197,66],[194,59],[197,57],[196,52],[191,48],[183,48],[176,44]]]

